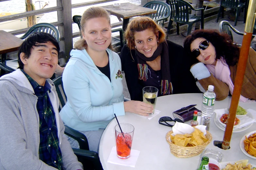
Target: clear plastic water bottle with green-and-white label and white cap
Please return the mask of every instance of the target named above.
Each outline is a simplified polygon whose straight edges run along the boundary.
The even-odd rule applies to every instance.
[[[213,108],[216,94],[213,92],[213,85],[208,86],[208,90],[204,92],[203,102],[202,102],[202,116],[204,117],[212,117],[213,116]]]

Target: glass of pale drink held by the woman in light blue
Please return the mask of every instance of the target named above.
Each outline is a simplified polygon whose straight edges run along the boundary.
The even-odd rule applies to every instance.
[[[143,102],[153,105],[154,110],[149,115],[153,115],[156,107],[156,99],[158,94],[158,89],[152,86],[147,86],[142,89],[143,92]]]

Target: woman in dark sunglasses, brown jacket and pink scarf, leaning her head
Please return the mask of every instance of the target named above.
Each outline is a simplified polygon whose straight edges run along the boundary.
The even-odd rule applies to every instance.
[[[240,47],[228,34],[217,30],[196,30],[185,39],[184,49],[193,60],[191,73],[205,90],[208,85],[213,85],[216,100],[232,95]],[[240,101],[256,100],[255,72],[256,52],[250,48]]]

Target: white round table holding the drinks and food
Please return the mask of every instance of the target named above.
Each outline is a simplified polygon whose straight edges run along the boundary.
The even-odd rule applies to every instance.
[[[162,116],[170,116],[173,118],[172,112],[178,110],[181,107],[197,104],[196,108],[201,109],[202,93],[190,93],[190,94],[173,94],[166,95],[157,98],[156,109],[161,112],[148,120],[137,116],[133,113],[126,113],[125,116],[119,116],[120,123],[130,123],[134,126],[134,136],[132,142],[132,149],[140,150],[140,155],[136,162],[135,168],[123,165],[117,165],[107,163],[111,149],[115,146],[115,132],[114,126],[117,125],[115,119],[113,119],[107,128],[105,129],[99,146],[99,157],[104,170],[194,170],[197,168],[200,161],[199,155],[190,158],[177,158],[175,157],[169,148],[169,144],[165,139],[167,132],[172,130],[171,127],[163,126],[158,123],[158,120]],[[214,109],[228,108],[230,106],[231,97],[227,97],[225,100],[216,101]],[[239,105],[245,109],[251,108],[256,110],[256,103],[243,103],[239,102]],[[213,114],[213,117],[215,114]],[[253,115],[254,119],[256,115]],[[190,121],[186,122],[189,123]],[[248,132],[256,130],[256,123],[243,132],[233,133],[230,141],[230,149],[223,150],[213,145],[214,140],[223,140],[224,131],[220,130],[213,122],[213,118],[210,123],[209,132],[212,134],[212,141],[206,148],[215,149],[223,153],[222,162],[237,161],[241,159],[248,159],[249,163],[256,162],[246,156],[239,148],[239,142],[241,138]]]

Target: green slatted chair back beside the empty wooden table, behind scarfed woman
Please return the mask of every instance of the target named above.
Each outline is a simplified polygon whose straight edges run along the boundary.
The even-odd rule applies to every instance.
[[[168,4],[162,1],[150,1],[146,3],[143,7],[155,9],[157,13],[147,16],[152,18],[155,22],[162,26],[171,15],[171,8]]]

